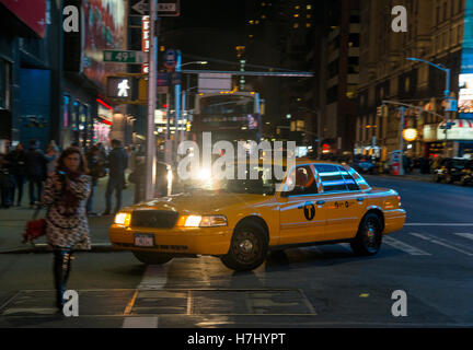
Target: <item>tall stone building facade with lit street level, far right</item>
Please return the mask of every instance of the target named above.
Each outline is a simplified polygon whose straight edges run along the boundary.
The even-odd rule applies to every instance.
[[[469,47],[465,46],[465,24],[471,19],[470,0],[361,0],[360,75],[357,90],[359,109],[356,120],[355,152],[372,154],[382,161],[400,149],[401,130],[414,129],[417,138],[404,141],[403,151],[413,158],[463,155],[470,137],[458,139],[457,128],[470,124],[471,114],[447,112],[446,72],[416,58],[450,69],[448,89],[454,96],[461,92],[460,77],[466,73]],[[392,30],[395,5],[407,9],[407,32]],[[406,110],[401,125],[399,109],[388,104],[385,114],[378,115],[382,101],[402,102],[423,108]],[[446,117],[459,120],[447,132]],[[461,125],[461,126],[460,126]],[[450,137],[448,136],[450,133]],[[471,139],[473,141],[473,139]]]

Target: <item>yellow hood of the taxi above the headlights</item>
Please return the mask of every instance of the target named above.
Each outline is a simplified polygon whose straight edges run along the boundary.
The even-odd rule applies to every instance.
[[[266,201],[272,196],[249,194],[216,194],[203,191],[196,194],[180,194],[141,202],[132,207],[137,209],[154,209],[177,211],[180,214],[217,214],[232,206],[246,207]]]

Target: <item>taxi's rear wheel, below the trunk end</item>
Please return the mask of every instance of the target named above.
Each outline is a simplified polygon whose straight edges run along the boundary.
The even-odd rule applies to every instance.
[[[382,242],[382,226],[379,215],[371,212],[365,215],[356,237],[350,242],[356,255],[372,256],[378,254]]]

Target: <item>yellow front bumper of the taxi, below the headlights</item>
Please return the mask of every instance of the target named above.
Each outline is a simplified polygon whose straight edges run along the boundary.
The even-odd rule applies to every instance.
[[[136,235],[152,237],[152,246],[138,246]],[[122,250],[159,252],[175,255],[224,255],[230,248],[231,230],[224,228],[142,229],[113,224],[112,245]]]

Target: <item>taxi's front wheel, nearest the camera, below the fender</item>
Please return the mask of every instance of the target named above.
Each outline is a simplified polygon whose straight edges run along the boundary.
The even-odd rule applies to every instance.
[[[267,250],[268,242],[263,228],[247,222],[236,228],[229,253],[221,257],[221,261],[232,270],[250,271],[264,262]]]

